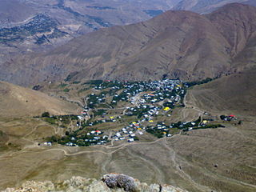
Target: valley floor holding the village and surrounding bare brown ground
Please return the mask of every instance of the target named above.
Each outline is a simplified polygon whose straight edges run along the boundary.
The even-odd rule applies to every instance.
[[[233,117],[227,111],[201,110],[192,99],[197,87],[215,81],[95,80],[35,86],[33,92],[39,89],[80,110],[70,115],[45,111],[30,118],[2,117],[6,142],[0,159],[6,177],[0,180],[1,186],[14,186],[14,172],[19,178],[17,186],[26,180],[44,181],[46,175],[58,181],[69,179],[66,173],[99,178],[119,172],[142,182],[169,183],[189,191],[224,186],[226,191],[254,191],[254,171],[242,171],[242,167],[254,166],[250,155],[254,149],[249,147],[256,141],[253,118],[238,112]],[[220,118],[223,114],[226,120]],[[236,140],[239,145],[234,144]],[[230,147],[246,151],[237,154]],[[229,155],[241,160],[230,161]],[[34,166],[28,170],[29,164]],[[199,173],[204,177],[196,176]]]

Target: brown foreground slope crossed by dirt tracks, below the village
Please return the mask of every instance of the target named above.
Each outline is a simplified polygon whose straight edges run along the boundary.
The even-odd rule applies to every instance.
[[[115,172],[189,191],[254,191],[254,122],[115,147],[37,147],[1,156],[2,188]],[[15,166],[13,166],[15,165]],[[215,166],[217,165],[217,167]],[[15,173],[15,174],[14,174]],[[146,175],[146,176],[145,176]]]

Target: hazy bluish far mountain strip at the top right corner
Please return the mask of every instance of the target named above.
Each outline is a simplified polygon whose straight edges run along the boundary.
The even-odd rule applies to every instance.
[[[232,2],[241,2],[243,4],[255,6],[254,0],[182,0],[178,2],[178,4],[174,6],[173,9],[191,10],[200,14],[206,14]]]

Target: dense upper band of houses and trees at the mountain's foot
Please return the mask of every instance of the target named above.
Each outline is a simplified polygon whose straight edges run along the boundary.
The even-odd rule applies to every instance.
[[[112,97],[111,105],[116,105],[119,101],[131,102],[136,104],[136,96],[142,92],[154,92],[145,94],[139,102],[146,103],[157,103],[161,102],[166,98],[169,101],[178,102],[182,95],[185,95],[185,90],[182,89],[183,82],[180,80],[162,80],[154,82],[117,82],[117,81],[106,81],[100,82],[97,86],[94,86],[95,90],[104,90],[103,94],[90,94],[86,98],[87,106],[94,108],[100,103],[106,102],[106,94]],[[105,90],[108,89],[108,90]],[[118,90],[122,90],[118,94]]]

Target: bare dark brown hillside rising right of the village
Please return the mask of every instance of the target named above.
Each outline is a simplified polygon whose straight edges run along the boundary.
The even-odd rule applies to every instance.
[[[256,115],[256,70],[219,78],[190,90],[190,102],[204,110]]]

